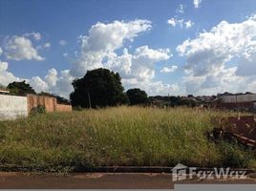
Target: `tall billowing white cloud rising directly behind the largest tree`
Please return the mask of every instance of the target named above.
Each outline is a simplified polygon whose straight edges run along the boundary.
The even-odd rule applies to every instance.
[[[150,29],[151,22],[148,20],[97,23],[88,35],[80,36],[81,53],[73,63],[70,74],[80,77],[87,70],[103,67],[118,72],[126,89],[139,87],[148,94],[154,92],[154,95],[177,91],[176,85],[154,81],[155,65],[172,56],[169,49],[151,49],[145,45],[132,53],[126,48],[117,53],[125,41],[133,41],[140,32]]]

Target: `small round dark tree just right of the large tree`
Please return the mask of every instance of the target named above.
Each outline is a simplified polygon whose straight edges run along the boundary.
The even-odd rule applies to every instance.
[[[139,88],[130,89],[126,92],[131,105],[145,104],[148,102],[148,96],[145,91]]]

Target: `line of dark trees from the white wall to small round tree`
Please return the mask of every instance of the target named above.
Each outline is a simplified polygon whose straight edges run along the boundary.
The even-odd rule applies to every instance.
[[[147,104],[147,94],[139,88],[124,92],[121,77],[108,69],[99,68],[87,73],[82,78],[73,81],[74,92],[70,100],[50,93],[40,93],[41,96],[53,96],[62,104],[71,103],[76,108],[97,108],[117,106],[123,104],[139,105]],[[36,95],[29,83],[26,81],[14,81],[7,86],[11,95],[26,96]]]

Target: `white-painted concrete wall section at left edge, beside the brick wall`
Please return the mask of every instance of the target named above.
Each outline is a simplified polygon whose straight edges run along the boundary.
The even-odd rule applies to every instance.
[[[0,95],[0,120],[28,116],[26,96]]]

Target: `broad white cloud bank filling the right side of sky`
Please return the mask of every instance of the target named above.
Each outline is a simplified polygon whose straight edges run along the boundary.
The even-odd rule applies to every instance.
[[[187,91],[244,91],[248,81],[243,76],[254,74],[251,70],[256,63],[255,37],[256,20],[249,17],[242,23],[222,21],[209,32],[185,40],[177,51],[186,57]],[[240,64],[228,68],[228,63],[236,63],[235,60],[241,60]]]

